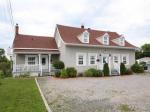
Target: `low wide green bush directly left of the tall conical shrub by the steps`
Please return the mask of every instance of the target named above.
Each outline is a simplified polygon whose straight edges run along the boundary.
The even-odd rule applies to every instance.
[[[102,76],[102,71],[101,70],[96,70],[94,68],[90,68],[84,72],[85,77],[101,77]]]

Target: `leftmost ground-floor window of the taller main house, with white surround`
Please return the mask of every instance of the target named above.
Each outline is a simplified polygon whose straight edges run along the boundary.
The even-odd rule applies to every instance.
[[[86,65],[86,54],[85,53],[77,53],[76,54],[76,65],[77,66],[85,66]]]

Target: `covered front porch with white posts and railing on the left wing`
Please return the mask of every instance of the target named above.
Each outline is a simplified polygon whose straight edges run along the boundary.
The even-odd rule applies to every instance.
[[[59,59],[58,53],[22,54],[15,53],[13,59],[13,74],[29,73],[31,76],[50,75],[54,70],[52,63]]]

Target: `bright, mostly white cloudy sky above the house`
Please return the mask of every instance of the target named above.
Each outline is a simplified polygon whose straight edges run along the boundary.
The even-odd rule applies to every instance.
[[[0,48],[12,46],[7,1],[0,0]],[[19,33],[53,36],[56,24],[115,31],[140,47],[150,43],[150,0],[10,0]]]

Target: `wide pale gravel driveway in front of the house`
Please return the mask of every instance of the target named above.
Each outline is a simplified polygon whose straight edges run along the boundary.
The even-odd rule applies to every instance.
[[[150,74],[38,82],[53,112],[150,112]]]

